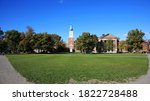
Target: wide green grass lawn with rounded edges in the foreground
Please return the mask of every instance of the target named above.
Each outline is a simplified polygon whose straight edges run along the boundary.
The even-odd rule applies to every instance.
[[[69,83],[70,80],[124,82],[146,74],[143,54],[26,54],[7,55],[14,68],[34,83]]]

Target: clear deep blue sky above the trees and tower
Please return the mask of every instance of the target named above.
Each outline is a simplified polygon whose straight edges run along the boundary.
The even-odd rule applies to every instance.
[[[111,33],[121,40],[131,29],[141,29],[150,39],[150,0],[0,0],[0,27],[4,30],[56,33],[67,42],[69,26],[74,36],[90,32]]]

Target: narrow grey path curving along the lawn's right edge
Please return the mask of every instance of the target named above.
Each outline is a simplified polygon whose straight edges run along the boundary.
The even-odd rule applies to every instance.
[[[130,82],[130,84],[150,84],[150,54],[147,54],[149,60],[149,69],[146,75],[141,76],[135,81]]]

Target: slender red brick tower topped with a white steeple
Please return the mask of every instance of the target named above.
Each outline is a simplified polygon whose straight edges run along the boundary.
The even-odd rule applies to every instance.
[[[70,30],[69,30],[68,48],[69,48],[70,52],[73,52],[73,50],[74,50],[74,36],[73,36],[72,25],[70,25]]]

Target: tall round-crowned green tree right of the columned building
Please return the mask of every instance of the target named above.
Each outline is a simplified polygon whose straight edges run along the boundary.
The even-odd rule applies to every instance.
[[[144,35],[145,33],[138,29],[131,30],[128,32],[127,43],[129,46],[129,52],[138,52],[142,48],[141,43],[143,42]]]

